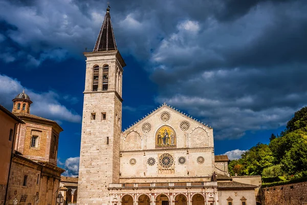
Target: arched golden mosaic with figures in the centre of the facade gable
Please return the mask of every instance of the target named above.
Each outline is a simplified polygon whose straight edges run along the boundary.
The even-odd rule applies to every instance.
[[[176,147],[176,133],[169,126],[162,126],[156,133],[156,148]]]

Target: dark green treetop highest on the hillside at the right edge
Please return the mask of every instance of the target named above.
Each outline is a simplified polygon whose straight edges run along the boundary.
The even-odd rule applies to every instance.
[[[294,117],[287,123],[287,129],[292,132],[307,126],[307,106],[294,113]]]

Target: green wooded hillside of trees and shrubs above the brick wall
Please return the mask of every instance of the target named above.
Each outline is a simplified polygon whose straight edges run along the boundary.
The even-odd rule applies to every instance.
[[[264,182],[279,184],[307,177],[307,106],[295,112],[284,131],[271,134],[269,145],[258,143],[241,156],[229,163],[231,175],[261,175]]]

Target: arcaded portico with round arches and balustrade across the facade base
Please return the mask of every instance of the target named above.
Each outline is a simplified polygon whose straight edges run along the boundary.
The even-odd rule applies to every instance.
[[[212,205],[218,201],[217,182],[113,184],[109,193],[112,205]]]

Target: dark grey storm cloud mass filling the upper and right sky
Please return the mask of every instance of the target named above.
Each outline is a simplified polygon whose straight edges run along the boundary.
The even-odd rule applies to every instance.
[[[15,28],[1,32],[0,58],[32,67],[80,58],[94,47],[105,8],[94,0],[0,2],[0,17]],[[111,2],[118,48],[144,64],[156,100],[204,120],[219,139],[278,128],[306,104],[306,10],[303,0]]]

